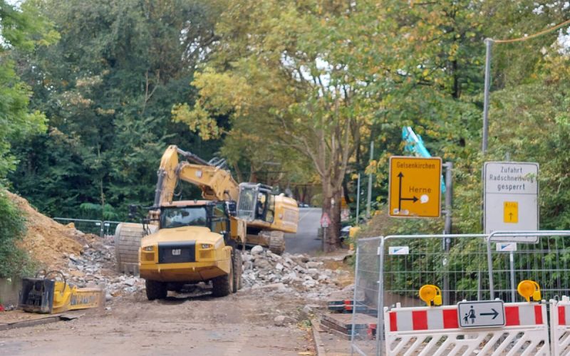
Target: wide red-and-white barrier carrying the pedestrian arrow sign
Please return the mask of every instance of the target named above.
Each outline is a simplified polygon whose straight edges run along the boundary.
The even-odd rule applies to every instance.
[[[504,317],[504,327],[465,329],[457,305],[384,308],[386,354],[550,355],[544,303],[506,303]]]

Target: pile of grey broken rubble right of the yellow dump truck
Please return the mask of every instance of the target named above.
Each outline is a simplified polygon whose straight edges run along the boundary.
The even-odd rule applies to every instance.
[[[251,251],[242,253],[242,280],[246,288],[271,288],[277,292],[293,292],[315,300],[330,295],[337,290],[336,277],[348,272],[332,271],[303,254],[282,256],[254,246]]]

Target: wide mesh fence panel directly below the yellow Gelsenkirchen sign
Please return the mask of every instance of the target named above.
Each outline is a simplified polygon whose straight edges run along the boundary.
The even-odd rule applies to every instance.
[[[444,305],[489,298],[484,237],[480,234],[386,236],[383,306],[425,305],[418,298],[418,290],[425,284],[441,288]]]

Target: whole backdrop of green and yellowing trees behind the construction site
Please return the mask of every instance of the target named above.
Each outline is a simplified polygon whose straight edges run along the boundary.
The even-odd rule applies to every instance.
[[[239,180],[321,184],[334,238],[332,201],[354,197],[356,173],[374,173],[381,209],[388,159],[403,154],[401,127],[412,125],[454,163],[454,232],[480,231],[482,164],[505,157],[541,164],[541,227],[569,225],[559,33],[494,44],[491,139],[480,152],[484,38],[559,23],[564,2],[0,5],[0,177],[19,160],[12,186],[48,214],[124,218],[126,204],[150,203],[162,151],[176,144],[222,155]],[[44,46],[58,38],[51,26],[61,38]],[[390,226],[439,232],[442,221]]]

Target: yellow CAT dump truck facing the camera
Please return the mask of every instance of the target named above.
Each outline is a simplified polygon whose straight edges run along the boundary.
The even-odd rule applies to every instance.
[[[212,281],[215,296],[237,291],[242,258],[236,246],[246,228],[245,221],[234,217],[233,201],[174,201],[156,212],[159,229],[142,238],[139,250],[148,299],[207,281]]]

